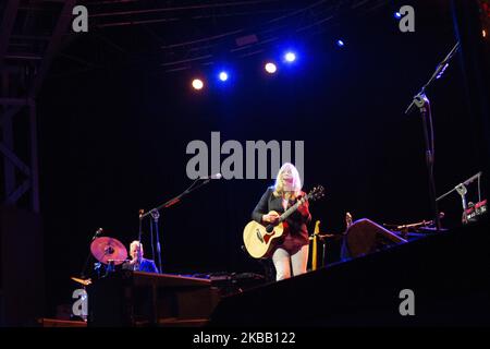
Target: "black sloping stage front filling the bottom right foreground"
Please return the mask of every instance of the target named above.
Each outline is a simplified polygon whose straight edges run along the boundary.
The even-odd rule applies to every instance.
[[[223,299],[210,326],[490,325],[488,224],[432,236]],[[400,292],[415,293],[402,316]]]

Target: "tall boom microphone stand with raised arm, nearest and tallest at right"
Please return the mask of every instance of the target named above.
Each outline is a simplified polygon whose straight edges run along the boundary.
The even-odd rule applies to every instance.
[[[456,53],[460,48],[460,43],[453,47],[451,52],[439,63],[436,72],[429,79],[429,81],[421,87],[420,92],[415,95],[408,108],[405,110],[405,115],[412,113],[416,108],[419,110],[422,127],[424,127],[424,141],[426,146],[426,165],[429,176],[429,190],[430,190],[430,201],[434,215],[436,230],[439,232],[441,230],[441,220],[439,217],[438,201],[436,200],[436,181],[433,178],[433,165],[434,165],[434,137],[433,137],[433,127],[432,127],[432,113],[430,112],[430,101],[427,98],[426,89],[430,84],[442,76],[445,69],[449,65],[449,61]]]

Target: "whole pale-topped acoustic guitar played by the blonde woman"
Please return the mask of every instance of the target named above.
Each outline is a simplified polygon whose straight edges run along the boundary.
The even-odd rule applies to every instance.
[[[255,220],[249,221],[243,230],[243,241],[249,255],[254,258],[268,257],[272,248],[284,232],[283,221],[287,219],[306,201],[316,201],[323,196],[323,186],[315,186],[307,195],[287,208],[274,225],[264,226]],[[275,213],[271,210],[269,214]]]

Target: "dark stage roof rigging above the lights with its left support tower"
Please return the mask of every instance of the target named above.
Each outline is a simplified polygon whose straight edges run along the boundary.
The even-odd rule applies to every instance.
[[[324,33],[389,0],[7,0],[0,2],[0,203],[39,212],[36,97],[45,77],[115,64],[162,72],[259,55],[289,36]],[[88,34],[73,33],[73,8]],[[83,44],[73,44],[84,38]],[[83,47],[89,48],[84,50]],[[53,59],[62,63],[60,69]],[[16,123],[22,127],[16,128]],[[27,193],[30,194],[29,200]]]

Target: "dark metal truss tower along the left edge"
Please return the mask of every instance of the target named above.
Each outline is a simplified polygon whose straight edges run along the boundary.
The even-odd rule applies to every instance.
[[[26,7],[29,2],[9,0],[0,9],[0,202],[38,213],[36,96],[71,23],[75,0],[37,1],[51,9],[54,21],[39,21]],[[15,128],[16,122],[22,127]]]

